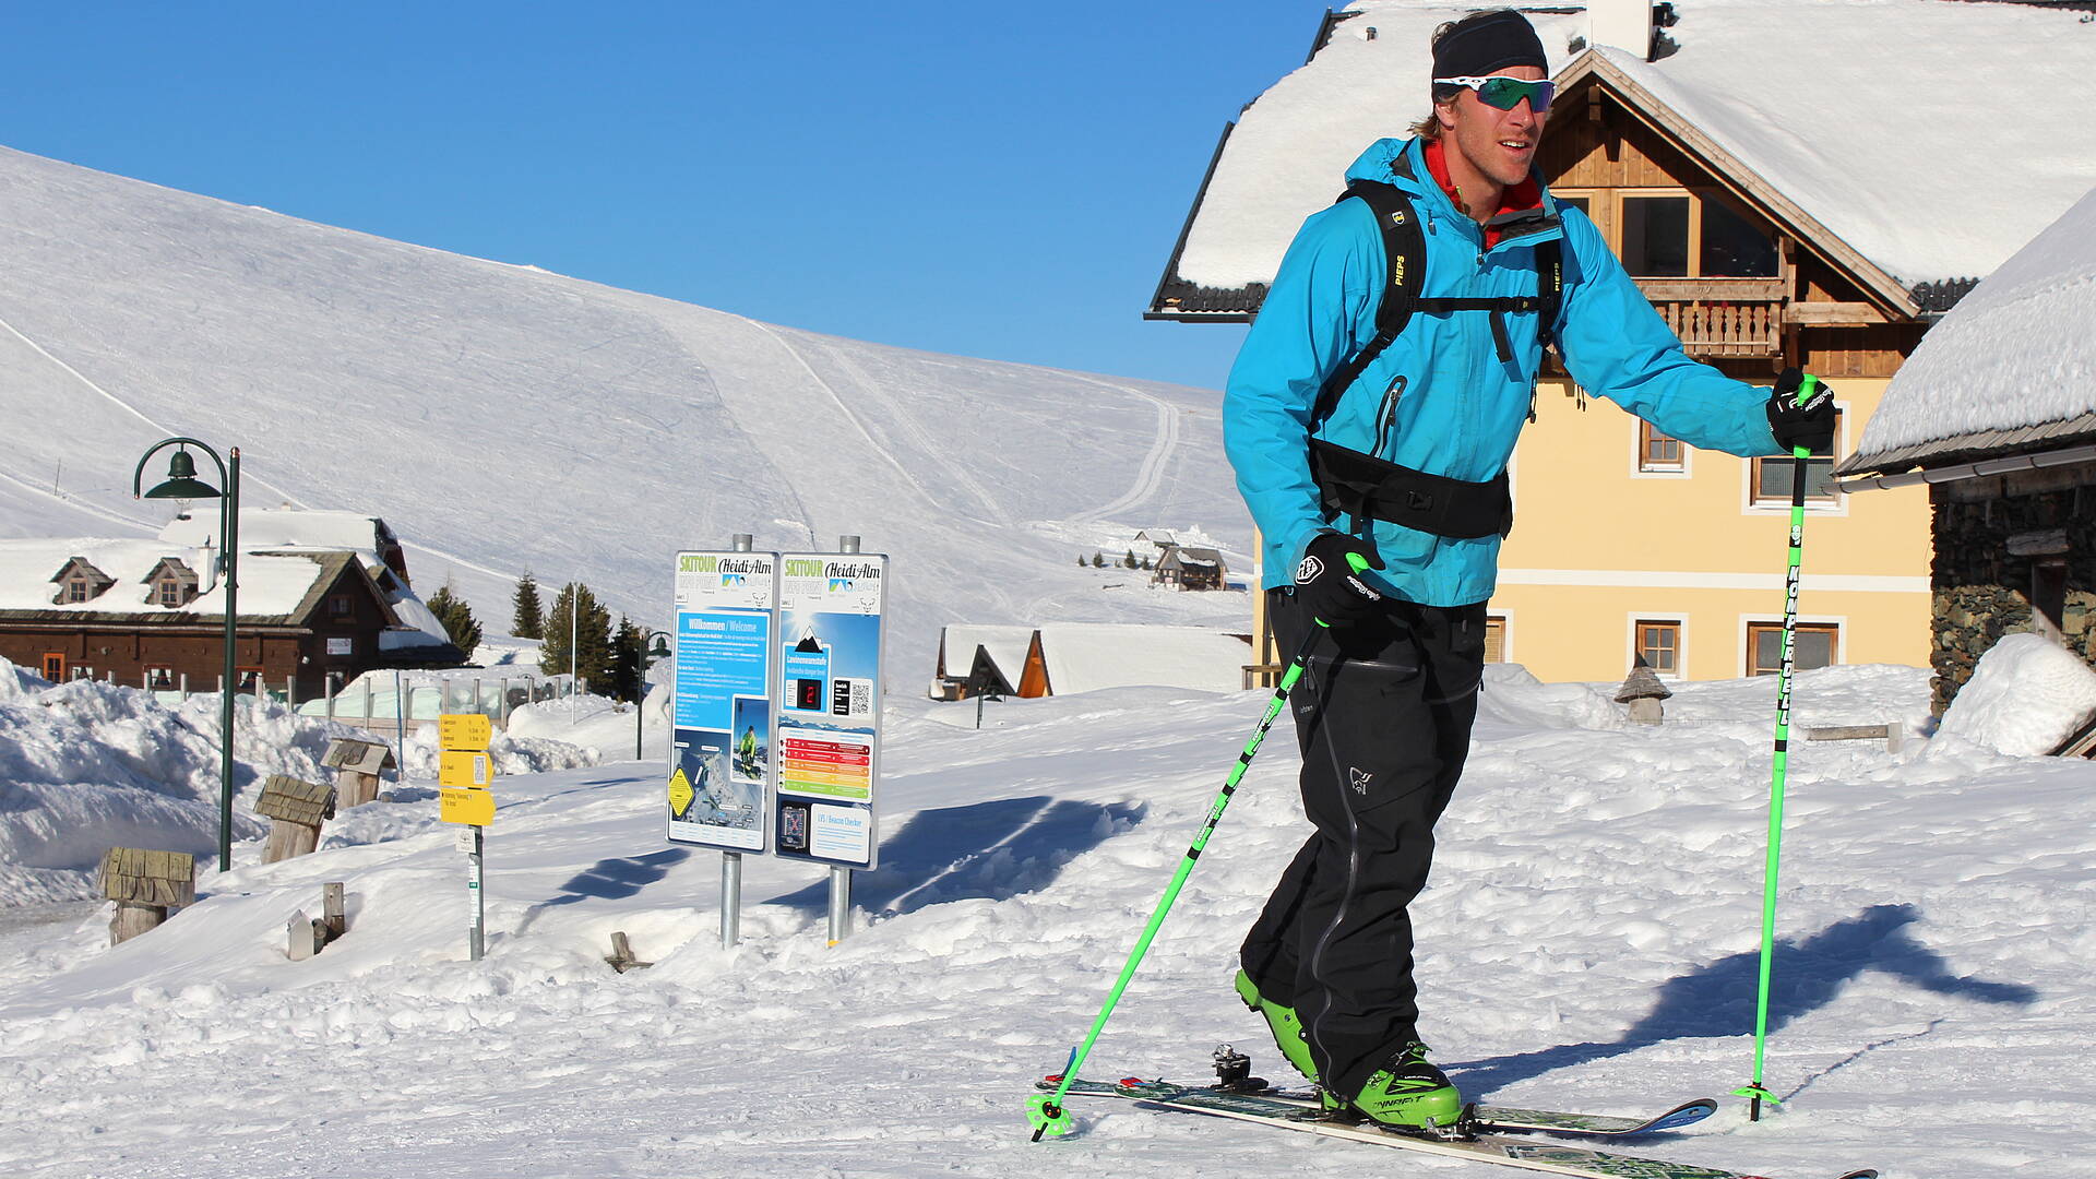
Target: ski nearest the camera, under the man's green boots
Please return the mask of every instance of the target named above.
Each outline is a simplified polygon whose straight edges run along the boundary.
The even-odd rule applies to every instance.
[[[1061,1087],[1061,1082],[1063,1078],[1054,1076],[1042,1080],[1040,1087],[1056,1089]],[[1302,1103],[1293,1101],[1281,1101],[1253,1093],[1228,1093],[1220,1089],[1188,1089],[1163,1080],[1126,1080],[1121,1085],[1105,1085],[1098,1080],[1071,1080],[1067,1085],[1067,1093],[1084,1097],[1119,1097],[1157,1110],[1184,1110],[1193,1114],[1211,1114],[1218,1118],[1264,1122],[1270,1127],[1314,1133],[1323,1137],[1367,1141],[1398,1150],[1415,1150],[1421,1154],[1440,1154],[1446,1158],[1471,1158],[1478,1162],[1497,1162],[1503,1166],[1543,1171],[1549,1175],[1585,1175],[1603,1179],[1767,1179],[1759,1175],[1723,1171],[1715,1166],[1700,1166],[1691,1162],[1666,1162],[1660,1158],[1603,1154],[1599,1150],[1587,1150],[1578,1145],[1526,1141],[1522,1137],[1509,1137],[1501,1133],[1482,1133],[1476,1137],[1457,1137],[1457,1139],[1406,1135],[1364,1122],[1331,1120],[1320,1112],[1306,1110]],[[1840,1179],[1876,1179],[1876,1177],[1878,1177],[1876,1171],[1849,1171],[1840,1175]]]

